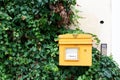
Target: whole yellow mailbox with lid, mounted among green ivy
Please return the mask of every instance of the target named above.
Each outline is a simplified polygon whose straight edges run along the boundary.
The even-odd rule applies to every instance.
[[[59,65],[91,66],[92,36],[89,34],[59,35]]]

